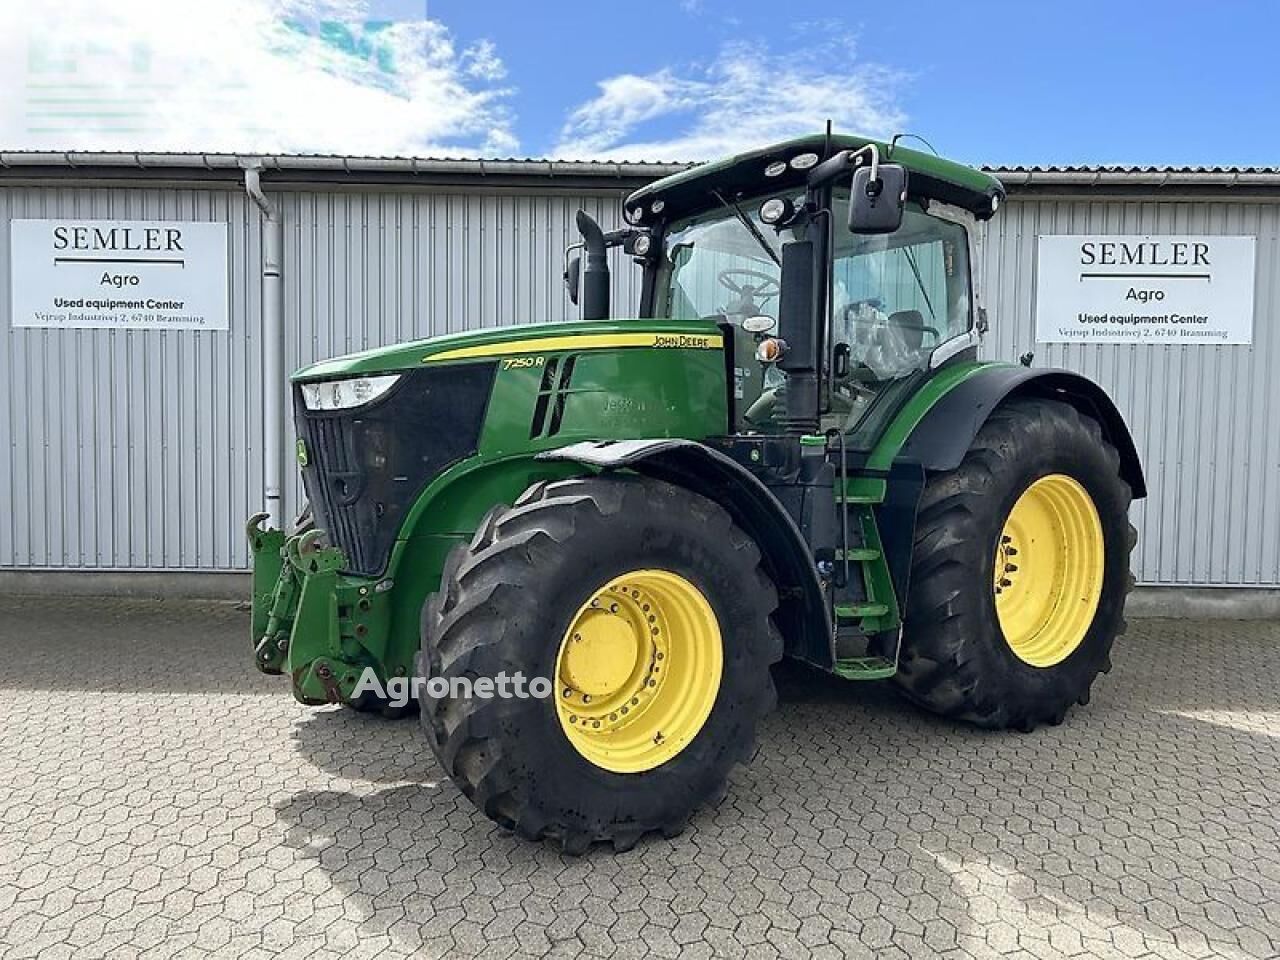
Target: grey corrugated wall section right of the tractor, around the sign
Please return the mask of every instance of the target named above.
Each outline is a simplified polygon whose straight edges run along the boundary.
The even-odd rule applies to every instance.
[[[1257,237],[1253,344],[1037,344],[1036,238],[1057,233]],[[986,253],[987,355],[1097,380],[1133,430],[1139,582],[1280,585],[1280,204],[1014,197]]]

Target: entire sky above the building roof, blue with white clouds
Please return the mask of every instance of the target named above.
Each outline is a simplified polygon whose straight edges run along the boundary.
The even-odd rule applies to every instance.
[[[55,0],[4,17],[0,148],[692,160],[831,116],[970,163],[1280,164],[1266,0]]]

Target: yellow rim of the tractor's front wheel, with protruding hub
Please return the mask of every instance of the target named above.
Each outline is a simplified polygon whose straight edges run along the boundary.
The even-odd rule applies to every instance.
[[[664,570],[636,570],[573,614],[556,655],[556,713],[596,767],[650,771],[698,736],[723,666],[719,622],[701,590]]]

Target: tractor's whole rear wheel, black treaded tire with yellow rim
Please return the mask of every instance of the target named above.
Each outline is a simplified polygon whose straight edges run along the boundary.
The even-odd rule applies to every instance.
[[[1080,576],[1094,577],[1091,589],[1066,589],[1056,600],[1043,602],[1051,625],[1055,617],[1059,623],[1062,617],[1080,617],[1078,630],[1068,625],[1070,643],[1048,653],[1020,636],[1006,636],[996,596],[1001,584],[1009,589],[1007,579],[996,580],[997,562],[1020,562],[1024,570],[1009,576],[1030,577],[1038,586],[1046,584],[1046,571],[1059,582],[1062,564],[1073,562],[1070,556],[1062,559],[1061,549],[1059,559],[1046,557],[1043,547],[1038,552],[1024,547],[1021,557],[1001,553],[1011,511],[1046,477],[1079,503],[1092,502],[1101,545],[1088,532],[1093,524],[1087,507],[1075,525],[1084,530],[1076,539],[1092,545],[1102,563],[1100,576],[1088,572],[1093,564],[1083,564]],[[1061,723],[1073,704],[1088,703],[1094,678],[1111,668],[1112,641],[1125,630],[1124,602],[1133,582],[1129,553],[1135,543],[1128,521],[1130,500],[1120,456],[1097,421],[1057,401],[1015,399],[998,407],[960,466],[931,476],[922,497],[896,676],[901,691],[946,717],[1024,731]],[[1053,516],[1052,509],[1047,513]],[[1080,593],[1096,598],[1092,620],[1079,613]]]

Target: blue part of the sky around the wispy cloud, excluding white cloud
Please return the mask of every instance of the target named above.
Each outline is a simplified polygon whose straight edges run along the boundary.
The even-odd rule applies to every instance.
[[[960,159],[1280,164],[1274,1],[498,6],[500,15],[492,4],[431,0],[430,10],[462,38],[493,40],[520,88],[517,131],[534,152],[554,145],[566,105],[595,95],[599,78],[689,73],[735,41],[803,61],[815,38],[849,36],[854,58],[826,72],[872,64],[900,73],[891,96],[906,128]],[[543,9],[532,15],[534,6]],[[841,15],[812,26],[795,17],[810,9]],[[660,118],[644,140],[675,138],[687,120]]]

